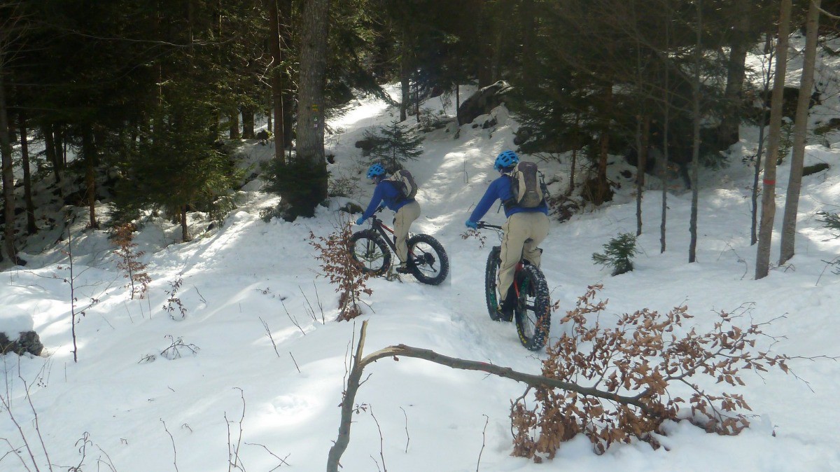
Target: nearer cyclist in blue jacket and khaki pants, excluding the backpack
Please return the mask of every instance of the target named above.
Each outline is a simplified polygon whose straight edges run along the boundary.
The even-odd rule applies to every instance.
[[[499,317],[506,321],[512,319],[513,307],[516,305],[516,295],[512,292],[508,294],[508,291],[513,284],[517,262],[524,257],[531,264],[539,266],[543,249],[537,246],[549,235],[549,207],[545,200],[533,208],[516,205],[511,190],[512,177],[509,174],[518,162],[519,157],[511,150],[506,150],[496,157],[493,169],[498,170],[500,175],[487,187],[484,197],[481,197],[478,206],[466,222],[468,228],[477,228],[478,221],[496,200],[501,200],[505,207],[507,222],[501,226],[504,233],[501,238],[501,265],[496,286],[501,301],[497,311]],[[526,242],[527,239],[530,240]]]

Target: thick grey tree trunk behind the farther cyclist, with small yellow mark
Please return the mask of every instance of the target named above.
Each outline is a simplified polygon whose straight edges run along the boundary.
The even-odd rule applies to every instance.
[[[297,102],[297,171],[300,191],[291,203],[295,216],[311,217],[327,197],[323,149],[324,81],[327,69],[329,0],[306,0],[302,8],[301,71]]]

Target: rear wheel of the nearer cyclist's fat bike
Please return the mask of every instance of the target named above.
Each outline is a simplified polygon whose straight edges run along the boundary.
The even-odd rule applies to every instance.
[[[542,270],[530,264],[522,267],[517,281],[519,297],[513,312],[519,342],[526,349],[537,351],[545,346],[551,328],[549,285]]]

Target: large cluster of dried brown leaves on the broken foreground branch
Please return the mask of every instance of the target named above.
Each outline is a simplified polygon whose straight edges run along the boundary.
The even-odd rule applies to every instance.
[[[580,296],[562,320],[571,323],[572,333],[549,346],[543,360],[543,376],[580,388],[539,387],[528,396],[529,387],[512,401],[512,455],[535,462],[552,459],[561,443],[580,433],[596,454],[633,438],[658,448],[651,433],[661,434],[666,420],[687,419],[708,432],[738,434],[749,425],[738,413],[750,409],[743,396],[706,391],[697,378],[711,376],[714,385],[737,386],[744,385],[742,370],[777,367],[788,373],[790,357],[751,350],[768,323],[750,323],[745,329],[733,324],[749,307],[736,314],[718,312],[708,333],[682,328],[683,320],[691,318],[686,307],[664,315],[643,309],[604,323],[606,302],[595,302],[601,289],[590,286]],[[690,395],[673,395],[677,390]],[[528,407],[528,398],[535,406]]]

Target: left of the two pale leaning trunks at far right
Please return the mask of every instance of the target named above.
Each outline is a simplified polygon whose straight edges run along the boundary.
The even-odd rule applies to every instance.
[[[761,195],[761,224],[755,257],[755,278],[763,279],[769,272],[770,243],[773,241],[773,221],[776,215],[776,161],[779,160],[779,137],[782,127],[782,92],[787,71],[788,36],[790,36],[791,0],[781,0],[779,39],[776,45],[776,73],[773,97],[770,101],[770,130],[767,157],[764,159],[764,192]]]

